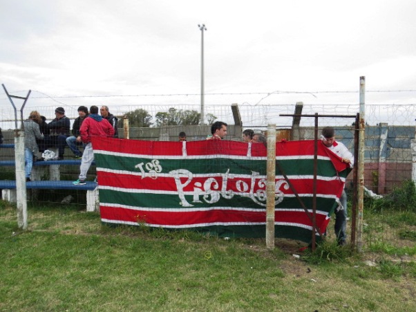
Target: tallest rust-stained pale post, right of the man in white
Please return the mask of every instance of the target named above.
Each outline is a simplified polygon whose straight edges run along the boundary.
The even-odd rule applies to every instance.
[[[363,207],[364,207],[364,149],[366,129],[366,77],[359,78],[359,151],[358,151],[358,180],[359,188],[357,194],[357,251],[363,250]]]

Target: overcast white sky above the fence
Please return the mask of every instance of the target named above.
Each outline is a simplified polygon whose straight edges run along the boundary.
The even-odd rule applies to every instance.
[[[199,104],[127,95],[200,93],[205,24],[207,105],[357,104],[361,75],[368,91],[416,90],[415,12],[414,0],[0,0],[0,83],[32,90],[28,106],[106,104],[44,95]],[[367,93],[366,103],[413,104],[416,92]],[[3,89],[0,105],[11,106]]]

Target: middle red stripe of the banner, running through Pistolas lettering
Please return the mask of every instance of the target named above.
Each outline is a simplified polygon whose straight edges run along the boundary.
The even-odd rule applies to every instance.
[[[133,176],[131,174],[117,174],[113,172],[101,172],[98,175],[98,183],[99,185],[106,185],[109,187],[121,187],[121,188],[128,188],[128,189],[138,189],[138,190],[160,190],[160,191],[167,191],[167,192],[177,192],[178,187],[176,186],[176,182],[174,178],[171,177],[164,177],[159,176],[158,178],[142,178],[142,176]],[[207,180],[207,177],[193,177],[191,183],[186,185],[183,188],[184,192],[193,192],[195,188],[202,190],[202,187]],[[185,185],[187,178],[180,178],[180,183]],[[216,177],[216,181],[218,183],[218,187],[214,187],[211,184],[211,190],[221,190],[223,187],[223,178],[220,176]],[[229,178],[227,182],[227,190],[231,190],[233,192],[240,192],[243,190],[244,185],[242,183],[238,183],[240,190],[237,188],[237,181],[243,181],[246,183],[246,187],[251,187],[251,180],[250,178]],[[265,190],[265,185],[263,187],[258,186],[258,178],[255,180],[254,190],[253,192],[257,192],[257,190]],[[284,181],[276,179],[276,181]],[[312,179],[291,179],[290,182],[292,183],[294,189],[298,194],[310,194],[313,190],[313,180]],[[199,183],[202,185],[201,187],[195,187],[195,183]],[[336,196],[341,196],[342,188],[340,187],[341,181],[339,180],[332,180],[332,181],[323,181],[319,180],[316,184],[316,192],[318,194],[325,194],[330,195],[334,194],[335,190],[338,190],[339,194],[334,194]],[[292,189],[285,190],[283,185],[280,187],[281,192],[283,194],[294,194]],[[249,189],[245,192],[249,192]]]

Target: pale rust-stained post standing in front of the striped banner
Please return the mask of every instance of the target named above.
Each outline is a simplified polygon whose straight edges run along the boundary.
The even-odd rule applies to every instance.
[[[274,211],[276,205],[276,125],[267,125],[267,201],[266,246],[274,249]]]

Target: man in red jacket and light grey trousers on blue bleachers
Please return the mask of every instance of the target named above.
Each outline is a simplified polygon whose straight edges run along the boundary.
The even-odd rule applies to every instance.
[[[101,136],[104,138],[111,138],[114,136],[114,128],[102,116],[98,115],[98,107],[93,105],[90,107],[90,114],[82,122],[79,129],[82,142],[86,144],[84,153],[82,154],[81,167],[79,169],[79,178],[74,181],[74,185],[85,185],[86,173],[90,169],[91,163],[94,161],[93,145],[91,144],[91,138],[93,136]]]

